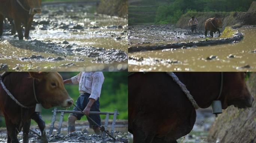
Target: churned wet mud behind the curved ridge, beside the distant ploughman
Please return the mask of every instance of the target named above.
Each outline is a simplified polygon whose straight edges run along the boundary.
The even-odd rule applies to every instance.
[[[191,40],[204,39],[204,31],[189,34],[187,29],[175,28],[175,25],[142,25],[129,26],[128,45],[141,44],[167,44],[172,42],[188,42]],[[210,35],[208,35],[210,36]],[[218,36],[218,34],[214,34]]]

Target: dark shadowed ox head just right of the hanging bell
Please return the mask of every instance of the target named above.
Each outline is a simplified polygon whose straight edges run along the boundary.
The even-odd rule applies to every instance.
[[[230,105],[238,108],[252,107],[253,96],[250,94],[246,82],[246,73],[231,72],[224,73],[222,108],[226,109]]]

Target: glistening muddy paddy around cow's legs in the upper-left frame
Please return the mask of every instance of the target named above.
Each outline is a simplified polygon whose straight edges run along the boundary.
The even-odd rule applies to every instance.
[[[45,5],[24,41],[5,24],[0,63],[17,71],[127,69],[128,20],[95,9],[91,3]]]

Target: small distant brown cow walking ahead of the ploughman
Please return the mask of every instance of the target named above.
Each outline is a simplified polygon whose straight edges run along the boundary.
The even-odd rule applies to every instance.
[[[209,18],[205,21],[204,27],[205,27],[205,32],[204,32],[205,36],[207,36],[208,31],[210,31],[211,37],[213,37],[213,32],[215,33],[216,31],[219,32],[219,36],[220,36],[219,28],[222,28],[222,19],[218,19],[216,17]]]

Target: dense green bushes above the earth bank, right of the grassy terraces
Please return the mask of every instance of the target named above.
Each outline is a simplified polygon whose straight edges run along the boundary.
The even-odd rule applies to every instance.
[[[253,0],[175,0],[158,7],[155,23],[176,23],[189,12],[246,12]]]

